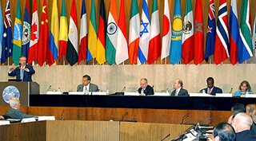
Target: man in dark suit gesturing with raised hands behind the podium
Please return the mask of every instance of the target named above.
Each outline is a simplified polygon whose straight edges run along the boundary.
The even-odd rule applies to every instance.
[[[9,76],[16,76],[16,79],[21,79],[25,82],[32,82],[31,76],[34,74],[34,69],[31,65],[26,65],[26,57],[19,57],[19,64],[16,69],[11,68],[8,72]]]

